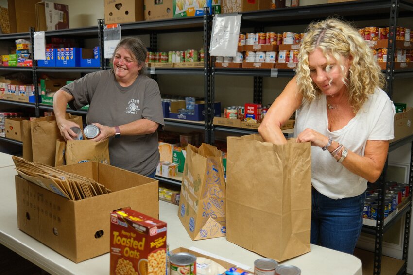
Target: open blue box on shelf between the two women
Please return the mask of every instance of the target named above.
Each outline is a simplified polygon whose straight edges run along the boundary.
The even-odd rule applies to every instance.
[[[204,101],[196,101],[195,109],[193,114],[180,114],[178,109],[185,108],[185,101],[175,101],[170,103],[169,108],[169,118],[182,119],[182,120],[192,120],[192,121],[202,121],[205,119],[204,110],[205,105]],[[221,102],[214,103],[215,113],[214,116],[221,115]]]

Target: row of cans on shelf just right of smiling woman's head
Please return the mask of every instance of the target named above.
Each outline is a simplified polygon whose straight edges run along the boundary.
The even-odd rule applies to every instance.
[[[185,51],[153,52],[148,51],[147,62],[181,63],[205,60],[205,50],[187,49]]]

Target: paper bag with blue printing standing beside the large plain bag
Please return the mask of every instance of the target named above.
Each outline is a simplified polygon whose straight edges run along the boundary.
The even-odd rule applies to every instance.
[[[178,217],[192,240],[225,236],[225,181],[222,152],[188,144]]]

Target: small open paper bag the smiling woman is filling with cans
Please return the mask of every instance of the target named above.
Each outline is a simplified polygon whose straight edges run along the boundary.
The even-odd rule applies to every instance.
[[[66,165],[82,162],[109,162],[109,140],[68,140],[66,142]]]

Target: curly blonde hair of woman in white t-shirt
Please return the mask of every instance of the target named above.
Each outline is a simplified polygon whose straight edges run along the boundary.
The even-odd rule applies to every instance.
[[[315,49],[321,49],[328,64],[331,56],[339,62],[343,73],[343,82],[349,92],[349,103],[357,113],[369,94],[376,87],[385,87],[386,81],[379,64],[360,33],[349,23],[336,18],[327,18],[321,22],[313,22],[307,27],[306,36],[301,42],[299,62],[297,65],[297,84],[299,92],[309,101],[316,99],[321,90],[310,76],[309,54]],[[340,64],[341,57],[350,59],[348,77],[344,74],[345,67]],[[330,80],[331,82],[331,80]]]

